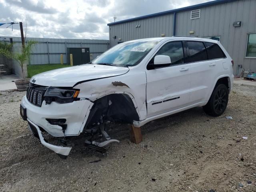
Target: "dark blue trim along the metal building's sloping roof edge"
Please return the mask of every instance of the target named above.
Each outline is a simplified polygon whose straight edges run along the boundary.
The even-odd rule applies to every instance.
[[[215,0],[215,1],[196,4],[196,5],[192,5],[192,6],[188,6],[188,7],[173,9],[173,10],[164,11],[164,12],[160,12],[160,13],[149,14],[149,15],[135,17],[135,18],[132,18],[132,19],[126,19],[126,20],[117,21],[117,22],[113,22],[113,23],[108,23],[107,25],[111,26],[111,25],[116,25],[116,24],[122,24],[122,23],[126,23],[126,22],[137,21],[137,20],[141,20],[141,19],[152,18],[152,17],[156,17],[156,16],[162,16],[162,15],[182,12],[182,11],[186,11],[186,10],[191,10],[191,9],[198,9],[198,8],[202,8],[202,7],[218,5],[218,4],[233,2],[233,1],[237,1],[237,0]]]

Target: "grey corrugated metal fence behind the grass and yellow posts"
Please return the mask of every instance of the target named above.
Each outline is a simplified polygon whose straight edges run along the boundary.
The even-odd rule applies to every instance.
[[[9,41],[11,37],[4,37]],[[20,37],[12,37],[15,44],[21,45]],[[86,47],[90,48],[92,59],[102,54],[109,48],[109,40],[91,39],[54,39],[54,38],[26,38],[26,41],[37,41],[30,56],[30,64],[55,64],[60,63],[60,54],[63,54],[63,62],[66,63],[66,48]]]

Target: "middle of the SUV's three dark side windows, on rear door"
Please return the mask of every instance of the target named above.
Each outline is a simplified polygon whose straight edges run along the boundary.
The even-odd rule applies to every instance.
[[[203,42],[187,41],[189,61],[198,62],[207,60],[207,52]]]

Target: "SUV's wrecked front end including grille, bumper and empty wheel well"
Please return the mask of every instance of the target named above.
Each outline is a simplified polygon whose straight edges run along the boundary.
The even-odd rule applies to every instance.
[[[64,159],[74,146],[71,144],[72,137],[69,136],[82,133],[86,147],[104,153],[106,146],[119,142],[108,135],[108,124],[132,124],[134,120],[139,120],[128,94],[110,94],[94,102],[79,98],[78,94],[79,89],[46,88],[30,84],[22,99],[21,115],[24,120],[28,120],[32,134]],[[44,132],[58,138],[60,145],[48,142]]]

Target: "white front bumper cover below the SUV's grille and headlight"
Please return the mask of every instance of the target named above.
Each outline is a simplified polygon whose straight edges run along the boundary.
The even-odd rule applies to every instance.
[[[93,103],[89,100],[80,100],[66,104],[52,102],[46,105],[43,101],[42,106],[38,107],[24,96],[21,105],[26,108],[26,116],[30,121],[52,136],[63,137],[79,135],[82,132]],[[50,124],[46,119],[65,119],[66,129]]]

